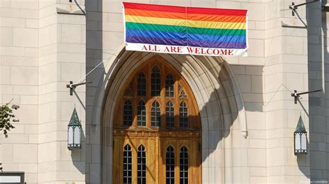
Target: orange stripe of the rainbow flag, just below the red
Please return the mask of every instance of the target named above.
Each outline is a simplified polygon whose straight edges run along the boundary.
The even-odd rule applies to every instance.
[[[125,9],[125,15],[159,17],[167,19],[187,19],[192,21],[246,22],[245,16],[185,14],[180,12],[160,12],[152,10]],[[187,18],[185,18],[187,16]]]

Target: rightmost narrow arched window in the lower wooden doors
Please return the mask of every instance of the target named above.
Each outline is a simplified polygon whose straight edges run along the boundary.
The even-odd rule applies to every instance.
[[[180,148],[179,155],[179,183],[189,183],[189,154],[185,146]]]

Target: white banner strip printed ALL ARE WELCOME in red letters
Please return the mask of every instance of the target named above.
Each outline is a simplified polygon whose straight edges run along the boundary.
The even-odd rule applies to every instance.
[[[168,46],[155,44],[135,44],[126,42],[126,50],[152,53],[210,55],[210,56],[248,56],[247,49],[204,48],[194,46]]]

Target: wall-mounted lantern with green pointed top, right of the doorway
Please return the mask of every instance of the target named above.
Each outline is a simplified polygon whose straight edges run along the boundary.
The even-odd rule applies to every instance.
[[[294,132],[294,152],[295,155],[307,154],[307,131],[301,116]]]

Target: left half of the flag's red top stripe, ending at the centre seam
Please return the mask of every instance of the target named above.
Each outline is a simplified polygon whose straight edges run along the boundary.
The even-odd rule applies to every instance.
[[[186,8],[182,6],[166,6],[166,5],[155,5],[155,4],[144,4],[144,3],[124,3],[124,8],[137,9],[137,10],[153,10],[160,12],[186,12]]]

